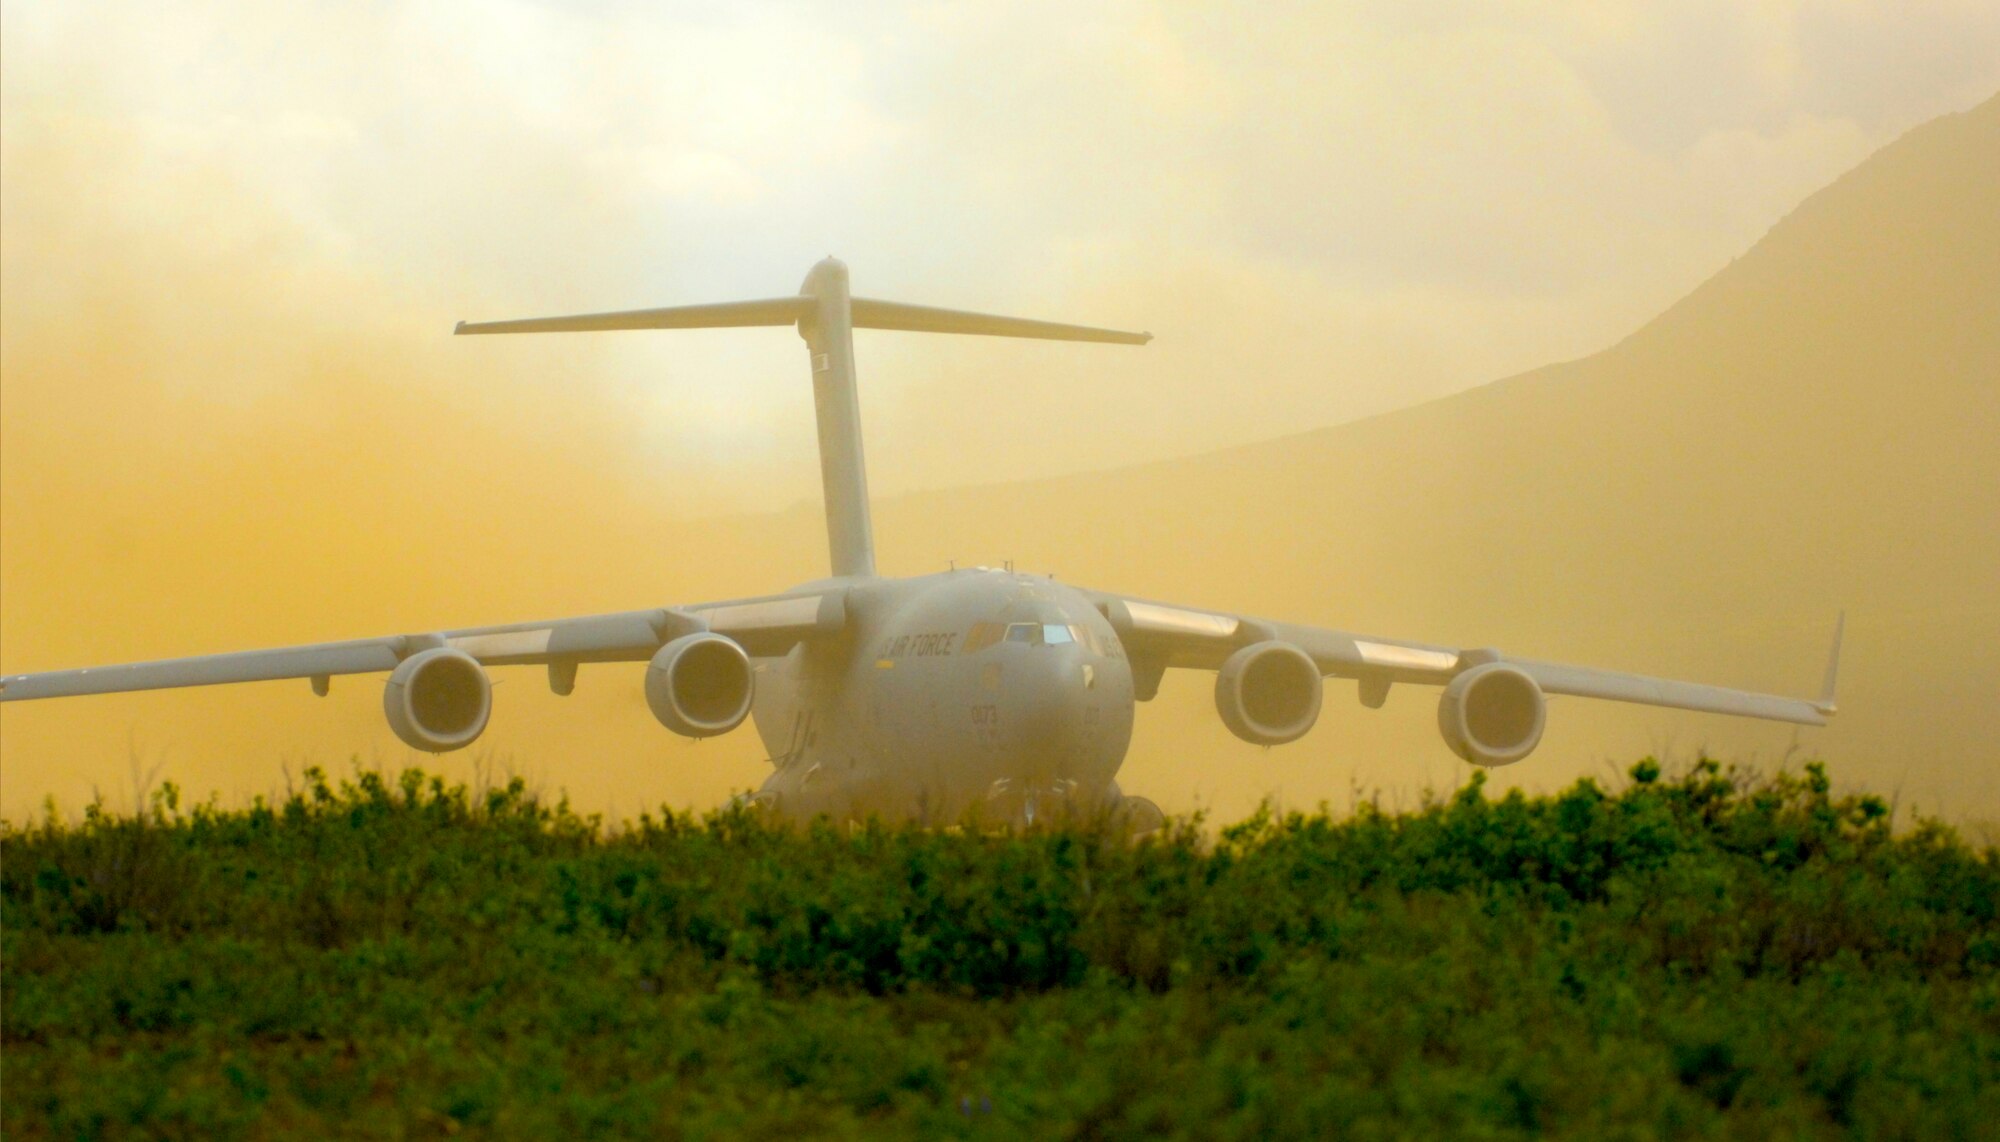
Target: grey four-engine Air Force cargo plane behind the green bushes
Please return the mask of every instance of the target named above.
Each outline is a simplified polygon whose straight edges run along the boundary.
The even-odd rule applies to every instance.
[[[826,258],[796,296],[458,324],[460,334],[796,326],[812,362],[832,578],[782,594],[622,614],[322,642],[0,678],[0,702],[220,682],[388,672],[384,710],[412,748],[470,746],[492,714],[492,666],[544,666],[556,694],[584,662],[646,662],[646,704],[708,738],[746,718],[776,772],[750,804],[786,818],[1034,822],[1106,812],[1160,820],[1118,790],[1134,702],[1168,668],[1214,670],[1216,712],[1242,740],[1294,742],[1324,678],[1382,706],[1396,682],[1442,686],[1438,728],[1460,758],[1506,766],[1542,740],[1548,694],[1824,726],[1840,626],[1818,700],[1426,646],[1152,602],[1014,570],[876,574],[854,384],[854,332],[912,330],[1146,344],[1150,334],[1000,318],[848,294]]]

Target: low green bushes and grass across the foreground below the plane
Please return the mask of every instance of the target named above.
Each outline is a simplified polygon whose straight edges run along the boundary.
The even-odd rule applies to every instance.
[[[1992,1138],[2000,852],[1824,770],[984,836],[362,772],[0,834],[36,1136]]]

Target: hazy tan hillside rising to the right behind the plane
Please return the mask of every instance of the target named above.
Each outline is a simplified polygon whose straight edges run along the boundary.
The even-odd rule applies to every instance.
[[[1590,358],[880,518],[898,562],[984,540],[1118,590],[1780,692],[1816,688],[1846,608],[1842,714],[1796,746],[1920,804],[1996,814],[2000,98],[1912,130]],[[1380,714],[1330,704],[1332,724],[1264,760],[1220,734],[1200,690],[1184,680],[1146,710],[1128,788],[1216,790],[1196,766],[1256,764],[1294,798],[1340,800],[1346,782],[1300,754],[1356,760],[1364,784],[1444,758],[1426,692]],[[1560,702],[1550,726],[1510,778],[1794,746],[1788,728],[1588,702]]]

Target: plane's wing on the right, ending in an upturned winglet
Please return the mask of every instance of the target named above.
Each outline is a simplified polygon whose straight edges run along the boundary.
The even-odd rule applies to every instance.
[[[1840,632],[1844,626],[1842,620],[1834,628],[1834,652],[1826,664],[1826,682],[1820,698],[1808,700],[1514,658],[1492,648],[1430,646],[1242,614],[1196,610],[1118,594],[1084,594],[1096,602],[1098,610],[1104,612],[1118,638],[1126,644],[1126,652],[1132,656],[1134,682],[1146,698],[1152,696],[1150,688],[1158,686],[1158,670],[1166,666],[1216,670],[1230,654],[1244,646],[1280,640],[1304,650],[1320,666],[1320,674],[1360,680],[1362,702],[1370,706],[1382,704],[1392,682],[1444,686],[1474,666],[1508,662],[1534,678],[1546,694],[1766,718],[1800,726],[1824,726],[1834,714],[1834,676],[1840,664]]]

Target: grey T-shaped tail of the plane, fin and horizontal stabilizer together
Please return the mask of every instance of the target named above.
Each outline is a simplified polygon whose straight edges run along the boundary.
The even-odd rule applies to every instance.
[[[862,414],[854,382],[854,330],[986,334],[1074,342],[1146,344],[1152,334],[1000,318],[848,294],[848,268],[826,258],[792,298],[670,306],[566,318],[458,322],[460,334],[558,334],[598,330],[706,330],[796,326],[812,360],[812,402],[820,422],[820,482],[826,492],[826,542],[836,576],[872,576],[874,528],[868,520],[868,466],[862,460]]]

